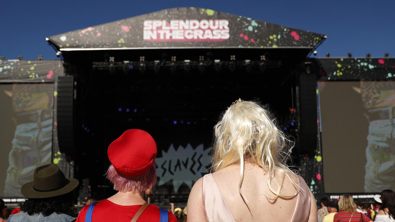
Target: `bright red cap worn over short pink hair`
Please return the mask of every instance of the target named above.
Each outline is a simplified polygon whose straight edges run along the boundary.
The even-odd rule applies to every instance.
[[[143,130],[127,130],[110,144],[108,158],[115,170],[126,177],[143,175],[154,164],[156,143]]]

